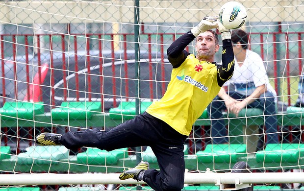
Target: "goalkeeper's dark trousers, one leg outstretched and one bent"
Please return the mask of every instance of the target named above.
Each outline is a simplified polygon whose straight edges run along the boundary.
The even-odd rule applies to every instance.
[[[143,180],[155,191],[180,191],[184,184],[184,143],[181,135],[160,119],[144,113],[127,120],[110,131],[87,129],[67,132],[61,143],[69,149],[82,146],[97,147],[107,151],[118,148],[151,146],[160,171],[149,169]]]

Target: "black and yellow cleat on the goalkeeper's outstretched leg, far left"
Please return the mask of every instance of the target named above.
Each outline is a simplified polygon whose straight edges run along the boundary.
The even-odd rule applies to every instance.
[[[40,145],[60,145],[61,134],[41,133],[36,136],[35,142]]]

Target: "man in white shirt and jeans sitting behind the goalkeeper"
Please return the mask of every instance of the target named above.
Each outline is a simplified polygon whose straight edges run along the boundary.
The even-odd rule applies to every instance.
[[[278,143],[277,94],[269,84],[263,60],[248,49],[248,34],[244,30],[233,30],[231,41],[235,56],[234,74],[208,108],[213,143],[228,143],[222,110],[228,110],[237,117],[244,108],[260,108],[263,111],[267,143]]]

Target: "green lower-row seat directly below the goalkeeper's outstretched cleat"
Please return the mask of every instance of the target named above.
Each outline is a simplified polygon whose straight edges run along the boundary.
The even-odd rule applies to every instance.
[[[17,155],[18,163],[22,164],[54,164],[56,161],[68,159],[69,149],[62,145],[30,146],[27,151]]]

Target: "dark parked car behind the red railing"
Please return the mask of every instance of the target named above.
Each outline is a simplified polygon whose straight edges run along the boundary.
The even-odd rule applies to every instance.
[[[134,51],[116,51],[112,58],[111,51],[91,50],[86,52],[53,52],[40,56],[41,67],[38,67],[37,55],[28,58],[19,56],[4,59],[4,71],[0,67],[0,104],[5,101],[40,100],[45,103],[46,112],[51,106],[59,106],[62,101],[101,101],[104,100],[104,111],[116,106],[122,100],[160,98],[170,80],[172,65],[160,53],[140,53],[139,68],[136,71]],[[165,55],[166,56],[166,55]],[[51,61],[52,59],[52,61]],[[102,70],[101,68],[102,67]],[[38,73],[41,68],[41,73]],[[139,78],[137,77],[139,73]],[[4,84],[4,89],[3,89]],[[139,88],[138,88],[139,84]],[[40,89],[41,87],[41,89]],[[4,91],[3,91],[4,90]],[[29,91],[28,91],[29,90]],[[41,91],[40,91],[41,90]]]

